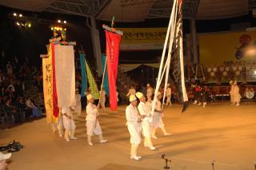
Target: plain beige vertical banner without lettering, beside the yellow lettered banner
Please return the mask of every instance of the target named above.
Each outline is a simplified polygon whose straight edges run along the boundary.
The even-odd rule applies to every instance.
[[[55,45],[55,75],[58,107],[75,104],[74,46]]]

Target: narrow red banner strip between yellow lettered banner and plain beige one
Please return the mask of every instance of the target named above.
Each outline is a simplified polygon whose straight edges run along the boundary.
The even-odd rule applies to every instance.
[[[54,117],[58,117],[58,97],[57,97],[57,89],[56,89],[56,77],[55,77],[55,47],[54,43],[51,43],[51,51],[52,51],[52,65],[53,65],[53,115]]]

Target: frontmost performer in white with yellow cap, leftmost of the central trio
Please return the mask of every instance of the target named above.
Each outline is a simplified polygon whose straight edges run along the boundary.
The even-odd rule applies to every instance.
[[[141,156],[137,156],[137,149],[141,143],[141,119],[136,108],[137,98],[131,95],[129,101],[130,105],[126,107],[126,125],[130,133],[130,159],[139,160]]]

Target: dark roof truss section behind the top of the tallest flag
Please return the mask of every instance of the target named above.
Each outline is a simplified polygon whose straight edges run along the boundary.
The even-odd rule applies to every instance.
[[[194,18],[197,14],[200,0],[183,0],[183,18]],[[256,0],[255,0],[256,1]],[[158,2],[167,2],[166,6],[159,7]],[[165,3],[164,3],[165,4]],[[172,2],[170,0],[156,0],[150,9],[147,18],[170,18]]]

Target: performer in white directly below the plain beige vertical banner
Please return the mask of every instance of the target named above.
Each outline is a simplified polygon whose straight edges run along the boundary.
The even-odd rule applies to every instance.
[[[70,107],[62,108],[63,125],[65,128],[64,137],[66,141],[76,140],[74,137],[74,130],[76,128],[74,124],[74,110]]]

